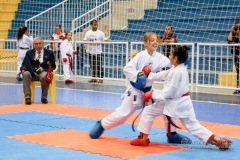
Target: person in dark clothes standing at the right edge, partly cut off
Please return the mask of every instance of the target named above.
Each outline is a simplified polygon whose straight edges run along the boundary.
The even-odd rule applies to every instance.
[[[228,35],[228,43],[234,44],[239,43],[240,41],[240,20],[236,20],[235,24],[232,26],[230,33]],[[237,87],[239,87],[239,46],[233,46],[231,49],[231,53],[233,54],[234,64],[237,72]],[[240,94],[240,90],[235,90],[233,94]]]

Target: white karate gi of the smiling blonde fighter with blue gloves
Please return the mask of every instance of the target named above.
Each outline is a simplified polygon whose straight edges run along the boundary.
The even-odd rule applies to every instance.
[[[150,56],[147,50],[138,53],[123,69],[129,81],[136,82],[137,75],[144,66],[149,66],[152,72],[160,72],[163,67],[171,67],[170,61],[161,53],[154,52]],[[152,86],[153,80],[147,79],[146,87]],[[122,96],[122,104],[114,112],[104,117],[101,124],[104,129],[111,129],[123,124],[136,110],[142,109],[145,105],[142,99],[143,92],[134,88],[130,83]],[[174,120],[173,120],[174,121]],[[173,131],[175,131],[173,129]]]

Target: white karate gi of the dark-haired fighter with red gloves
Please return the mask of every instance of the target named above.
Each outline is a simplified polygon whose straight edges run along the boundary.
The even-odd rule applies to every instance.
[[[213,133],[196,119],[190,96],[183,96],[189,91],[186,66],[182,63],[168,71],[157,74],[150,73],[148,78],[151,80],[165,79],[165,84],[162,90],[153,92],[152,98],[156,103],[145,107],[138,130],[149,134],[155,117],[164,114],[171,118],[179,118],[188,132],[206,143]]]

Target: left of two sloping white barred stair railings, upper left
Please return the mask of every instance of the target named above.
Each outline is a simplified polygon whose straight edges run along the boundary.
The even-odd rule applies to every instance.
[[[71,31],[72,20],[96,8],[103,0],[64,0],[63,2],[43,11],[25,21],[34,37],[40,36],[44,40],[55,32],[55,26],[61,25],[64,32]]]

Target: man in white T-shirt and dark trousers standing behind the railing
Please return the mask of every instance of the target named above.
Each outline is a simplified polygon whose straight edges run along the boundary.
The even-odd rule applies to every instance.
[[[87,31],[84,37],[84,41],[91,42],[103,42],[107,39],[105,38],[105,34],[98,29],[97,20],[91,21],[92,29]],[[92,77],[103,78],[103,68],[102,68],[102,46],[101,44],[89,44],[89,48],[87,49],[89,53],[89,63],[92,69]],[[88,81],[89,83],[103,83],[102,79],[91,79]]]

